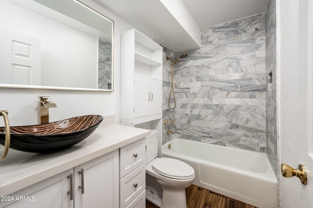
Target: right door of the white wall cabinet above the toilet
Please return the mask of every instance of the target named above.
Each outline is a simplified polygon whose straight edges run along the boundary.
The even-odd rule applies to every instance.
[[[150,79],[150,91],[152,94],[150,114],[162,113],[162,81]]]

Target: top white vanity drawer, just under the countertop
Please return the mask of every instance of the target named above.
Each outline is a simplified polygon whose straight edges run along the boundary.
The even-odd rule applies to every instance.
[[[146,161],[146,139],[143,138],[119,149],[119,178],[123,178]]]

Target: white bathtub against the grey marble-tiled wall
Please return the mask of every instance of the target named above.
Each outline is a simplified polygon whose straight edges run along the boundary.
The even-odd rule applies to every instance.
[[[196,186],[258,208],[278,208],[278,183],[266,153],[175,138],[162,146],[162,157],[192,166]]]

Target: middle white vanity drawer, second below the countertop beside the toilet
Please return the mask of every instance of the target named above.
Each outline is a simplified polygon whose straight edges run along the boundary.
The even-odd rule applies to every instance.
[[[120,207],[127,207],[146,188],[146,164],[119,180]]]

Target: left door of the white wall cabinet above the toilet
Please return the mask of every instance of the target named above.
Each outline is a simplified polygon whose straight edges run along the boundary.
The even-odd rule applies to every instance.
[[[150,115],[150,78],[134,75],[134,118]]]

